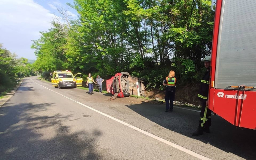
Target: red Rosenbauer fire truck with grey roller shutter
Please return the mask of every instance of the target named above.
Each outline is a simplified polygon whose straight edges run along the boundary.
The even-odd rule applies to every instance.
[[[255,86],[256,0],[217,0],[210,110],[235,126],[256,129]]]

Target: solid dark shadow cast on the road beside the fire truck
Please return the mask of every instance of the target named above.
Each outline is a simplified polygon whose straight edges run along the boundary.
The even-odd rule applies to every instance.
[[[191,136],[198,127],[198,112],[185,111],[174,108],[173,112],[165,112],[165,104],[152,104],[142,102],[141,104],[126,105],[134,112],[157,123],[171,131],[197,139],[206,144],[211,144],[223,151],[231,152],[239,157],[255,160],[256,157],[256,130],[236,129],[233,125],[219,116],[212,116],[211,133],[201,136]]]

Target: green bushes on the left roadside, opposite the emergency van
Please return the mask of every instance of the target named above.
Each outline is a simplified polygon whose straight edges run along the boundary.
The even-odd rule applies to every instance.
[[[0,95],[17,84],[16,78],[34,76],[35,72],[33,65],[28,63],[28,59],[17,59],[15,54],[0,44]]]

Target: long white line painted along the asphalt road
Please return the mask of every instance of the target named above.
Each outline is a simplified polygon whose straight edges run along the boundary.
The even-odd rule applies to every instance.
[[[32,80],[32,79],[31,79],[31,80]],[[32,81],[33,81],[33,80],[32,80]],[[34,81],[33,81],[33,82],[34,82]],[[38,83],[36,83],[36,82],[34,82],[34,83],[35,83],[35,84],[38,84]],[[38,85],[40,85],[40,84],[38,84]],[[42,85],[40,85],[40,86],[42,86]],[[44,87],[44,86],[42,86],[42,87]],[[46,87],[44,87],[44,88],[46,88]],[[89,107],[89,106],[87,106],[87,105],[85,105],[85,104],[83,104],[83,103],[80,103],[80,102],[78,102],[78,101],[76,101],[76,100],[74,100],[74,99],[72,99],[72,98],[69,98],[69,97],[67,97],[67,96],[65,96],[65,95],[63,95],[63,94],[60,94],[60,93],[58,93],[58,92],[56,92],[56,91],[54,91],[54,90],[51,90],[51,89],[49,89],[49,88],[46,88],[46,89],[48,89],[48,90],[50,90],[50,91],[52,91],[52,92],[55,92],[55,93],[59,94],[60,96],[63,96],[63,97],[65,97],[65,98],[67,98],[67,99],[70,99],[71,101],[74,101],[74,102],[76,102],[76,103],[78,103],[78,104],[81,104],[82,106],[85,106],[85,107],[89,108],[90,110],[93,110],[93,111],[95,111],[95,112],[97,112],[97,113],[99,113],[99,114],[101,114],[101,115],[103,115],[103,116],[106,116],[106,117],[108,117],[108,118],[110,118],[110,119],[113,119],[113,120],[115,120],[115,121],[117,121],[117,122],[119,122],[119,123],[121,123],[121,124],[123,124],[123,125],[125,125],[125,126],[127,126],[127,127],[130,127],[130,128],[132,128],[132,129],[134,129],[134,130],[136,130],[136,131],[139,131],[139,132],[145,134],[145,135],[148,135],[148,136],[150,136],[150,137],[152,137],[152,138],[154,138],[154,139],[156,139],[156,140],[158,140],[158,141],[161,141],[161,142],[163,142],[163,143],[165,143],[165,144],[168,144],[169,146],[172,146],[172,147],[174,147],[174,148],[176,148],[176,149],[179,149],[179,150],[181,150],[181,151],[183,151],[183,152],[185,152],[185,153],[187,153],[187,154],[189,154],[189,155],[191,155],[191,156],[194,156],[194,157],[199,158],[199,159],[201,159],[201,160],[211,160],[211,159],[209,159],[209,158],[207,158],[207,157],[204,157],[204,156],[202,156],[202,155],[197,154],[196,152],[193,152],[193,151],[191,151],[191,150],[188,150],[188,149],[186,149],[186,148],[183,148],[183,147],[181,147],[181,146],[179,146],[179,145],[176,145],[176,144],[174,144],[174,143],[172,143],[172,142],[170,142],[170,141],[167,141],[167,140],[165,140],[165,139],[162,139],[162,138],[160,138],[160,137],[158,137],[158,136],[156,136],[156,135],[154,135],[154,134],[148,133],[148,132],[146,132],[146,131],[144,131],[144,130],[142,130],[142,129],[139,129],[139,128],[137,128],[137,127],[134,127],[134,126],[132,126],[132,125],[129,125],[128,123],[126,123],[126,122],[124,122],[124,121],[121,121],[121,120],[116,119],[116,118],[114,118],[114,117],[112,117],[112,116],[110,116],[110,115],[107,115],[107,114],[102,113],[102,112],[100,112],[100,111],[98,111],[98,110],[95,110],[94,108],[91,108],[91,107]]]

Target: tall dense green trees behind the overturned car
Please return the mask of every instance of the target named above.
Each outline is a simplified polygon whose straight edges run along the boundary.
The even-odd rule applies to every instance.
[[[41,73],[69,69],[108,78],[126,71],[144,77],[147,89],[158,88],[170,70],[180,85],[198,81],[201,59],[211,51],[210,0],[74,0],[70,6],[79,19],[61,10],[62,19],[33,41]]]

